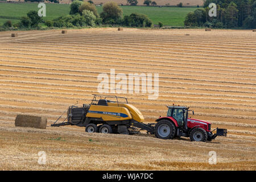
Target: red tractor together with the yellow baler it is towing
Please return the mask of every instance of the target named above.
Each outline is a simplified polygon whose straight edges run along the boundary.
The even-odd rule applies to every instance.
[[[156,123],[145,124],[142,113],[133,105],[128,104],[126,97],[98,94],[93,94],[93,96],[89,105],[70,106],[67,111],[67,122],[56,123],[59,120],[57,119],[51,126],[76,125],[85,127],[88,133],[105,134],[134,134],[139,133],[139,130],[146,130],[147,133],[155,134],[155,137],[161,139],[189,137],[191,141],[197,142],[211,141],[217,136],[227,134],[226,129],[218,128],[216,134],[213,134],[211,123],[188,118],[189,111],[194,114],[189,107],[167,106],[166,117],[159,117]],[[125,102],[120,102],[120,100]]]

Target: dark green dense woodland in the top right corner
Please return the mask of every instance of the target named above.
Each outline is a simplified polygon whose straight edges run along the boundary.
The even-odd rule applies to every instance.
[[[217,16],[209,16],[210,3],[217,5]],[[204,8],[188,13],[189,27],[256,28],[256,0],[204,0]]]

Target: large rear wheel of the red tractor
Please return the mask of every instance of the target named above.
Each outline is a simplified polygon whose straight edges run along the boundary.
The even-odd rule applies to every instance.
[[[155,137],[160,139],[174,139],[176,135],[175,125],[166,119],[163,119],[155,125]]]

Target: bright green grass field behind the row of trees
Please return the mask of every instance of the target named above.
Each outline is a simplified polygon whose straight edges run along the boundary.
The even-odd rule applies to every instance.
[[[162,22],[164,26],[183,26],[185,16],[196,9],[196,7],[147,7],[147,6],[121,6],[123,15],[131,13],[146,14],[153,22]],[[26,16],[30,10],[39,10],[38,3],[0,3],[0,25],[7,20],[16,23],[19,18]],[[97,7],[101,13],[102,7]],[[46,4],[46,17],[44,19],[55,19],[69,14],[69,5]]]

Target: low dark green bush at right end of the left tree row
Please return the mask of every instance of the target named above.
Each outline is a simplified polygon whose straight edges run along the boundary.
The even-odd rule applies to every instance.
[[[123,17],[123,24],[131,27],[151,27],[151,20],[144,14],[132,13]]]

